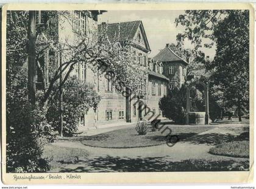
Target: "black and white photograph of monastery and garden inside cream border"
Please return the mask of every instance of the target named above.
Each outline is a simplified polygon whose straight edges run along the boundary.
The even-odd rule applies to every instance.
[[[7,10],[6,173],[249,173],[251,11]]]

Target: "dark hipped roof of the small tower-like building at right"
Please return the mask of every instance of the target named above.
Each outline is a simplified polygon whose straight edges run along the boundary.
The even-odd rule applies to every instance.
[[[154,61],[181,61],[183,64],[188,65],[187,61],[180,58],[176,55],[175,52],[171,50],[169,46],[166,46],[165,49],[160,50],[155,57],[153,57]]]

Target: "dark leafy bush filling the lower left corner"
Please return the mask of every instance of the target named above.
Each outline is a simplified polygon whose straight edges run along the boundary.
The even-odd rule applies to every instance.
[[[9,74],[9,72],[7,72]],[[49,170],[48,159],[41,157],[44,143],[35,130],[41,115],[32,111],[27,100],[26,70],[16,74],[16,79],[7,89],[7,172],[30,173]]]

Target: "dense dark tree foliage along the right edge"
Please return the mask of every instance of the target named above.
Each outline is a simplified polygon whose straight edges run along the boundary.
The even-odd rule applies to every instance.
[[[249,12],[231,12],[218,24],[214,35],[218,39],[210,65],[215,70],[213,80],[222,87],[227,107],[235,105],[241,114],[249,110]]]

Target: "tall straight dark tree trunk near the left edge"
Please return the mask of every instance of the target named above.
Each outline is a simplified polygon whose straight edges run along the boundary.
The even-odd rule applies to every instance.
[[[29,32],[28,32],[29,46],[28,46],[28,91],[29,101],[32,105],[35,105],[35,11],[29,11]]]

